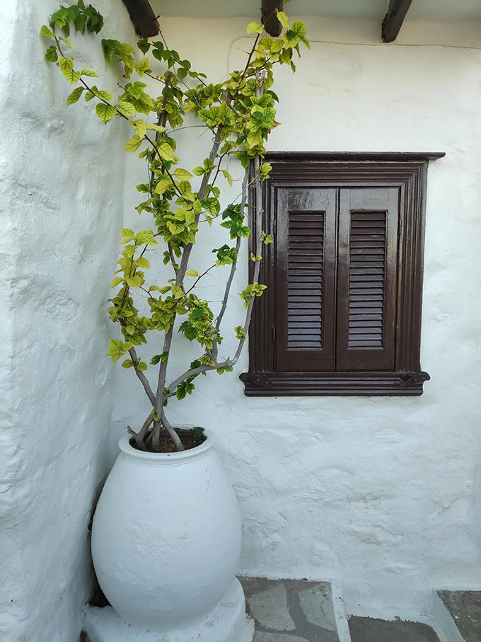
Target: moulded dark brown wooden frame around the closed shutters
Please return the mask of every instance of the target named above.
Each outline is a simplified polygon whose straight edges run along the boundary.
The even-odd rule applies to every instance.
[[[400,190],[398,287],[396,291],[395,368],[389,371],[275,372],[273,319],[275,288],[257,299],[249,331],[249,372],[240,374],[246,396],[417,396],[429,380],[419,361],[424,262],[424,218],[427,166],[441,152],[426,153],[286,153],[267,154],[270,179],[262,190],[262,229],[275,239],[270,208],[276,187],[393,187]],[[251,250],[256,246],[255,195]],[[265,246],[259,282],[274,285],[274,249]],[[252,265],[250,266],[252,273]]]

